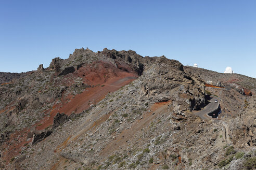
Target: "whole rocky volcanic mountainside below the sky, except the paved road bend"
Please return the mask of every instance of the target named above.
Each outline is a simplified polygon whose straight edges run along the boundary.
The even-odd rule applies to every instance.
[[[2,75],[0,169],[256,168],[254,78],[83,48]]]

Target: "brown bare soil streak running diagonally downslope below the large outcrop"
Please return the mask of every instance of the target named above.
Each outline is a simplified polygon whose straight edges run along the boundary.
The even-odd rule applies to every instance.
[[[168,107],[171,102],[161,102],[155,103],[150,107],[151,111],[145,112],[142,116],[143,119],[139,119],[131,124],[130,129],[122,131],[116,139],[112,140],[101,152],[100,155],[107,156],[110,155],[114,150],[121,147],[125,147],[127,142],[134,138],[141,132],[141,129],[148,127],[150,121],[155,119],[164,109]]]

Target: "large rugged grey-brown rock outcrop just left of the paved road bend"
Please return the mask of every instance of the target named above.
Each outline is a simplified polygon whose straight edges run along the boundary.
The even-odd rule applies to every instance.
[[[161,57],[145,70],[142,77],[145,77],[140,91],[142,97],[153,99],[156,102],[176,98],[174,105],[179,106],[180,110],[183,105],[189,105],[190,109],[204,106],[206,100],[203,94],[203,84],[197,84],[184,73],[183,65],[178,61]]]

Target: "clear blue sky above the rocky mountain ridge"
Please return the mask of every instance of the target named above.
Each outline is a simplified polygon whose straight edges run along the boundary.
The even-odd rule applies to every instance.
[[[256,1],[0,1],[0,72],[75,48],[134,50],[256,78]]]

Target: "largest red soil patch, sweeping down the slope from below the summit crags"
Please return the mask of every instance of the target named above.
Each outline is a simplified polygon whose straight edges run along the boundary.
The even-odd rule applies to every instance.
[[[45,119],[37,123],[42,124],[36,127],[37,130],[43,130],[52,125],[57,112],[64,112],[67,115],[70,115],[73,111],[76,113],[82,112],[88,109],[90,105],[97,104],[108,93],[117,91],[138,77],[135,73],[124,72],[116,68],[112,63],[102,61],[81,67],[78,72],[74,73],[74,76],[83,77],[84,83],[94,87],[87,88],[81,94],[75,95],[74,98],[68,96],[70,99],[68,103],[62,99],[63,104],[61,106],[60,104],[55,105],[56,109],[50,112],[50,117],[45,117]]]

